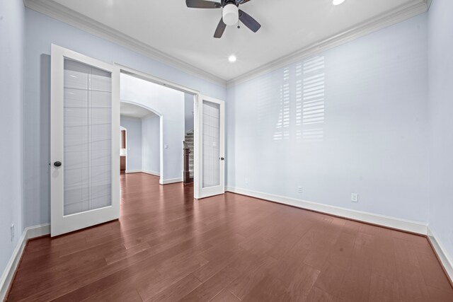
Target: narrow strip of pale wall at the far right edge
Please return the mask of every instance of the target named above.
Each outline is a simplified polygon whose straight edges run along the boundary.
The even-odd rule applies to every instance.
[[[430,219],[453,257],[453,1],[432,1],[428,15]]]

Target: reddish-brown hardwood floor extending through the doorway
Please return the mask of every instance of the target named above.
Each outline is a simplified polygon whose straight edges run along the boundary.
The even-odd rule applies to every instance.
[[[121,219],[30,240],[8,301],[453,301],[428,240],[121,175]]]

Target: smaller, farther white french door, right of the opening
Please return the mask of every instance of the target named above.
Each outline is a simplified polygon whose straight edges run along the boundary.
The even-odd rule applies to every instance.
[[[225,105],[198,95],[195,100],[195,198],[225,192]]]

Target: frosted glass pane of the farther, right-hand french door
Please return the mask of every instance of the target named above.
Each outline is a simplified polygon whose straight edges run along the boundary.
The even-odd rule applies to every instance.
[[[220,105],[203,100],[202,187],[220,185]]]

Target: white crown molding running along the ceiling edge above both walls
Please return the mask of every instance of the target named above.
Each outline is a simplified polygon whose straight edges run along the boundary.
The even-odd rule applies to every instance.
[[[101,37],[105,40],[115,42],[116,44],[127,47],[134,52],[144,54],[147,57],[156,59],[159,62],[164,62],[170,66],[188,72],[189,74],[199,76],[202,79],[212,81],[214,83],[220,84],[221,86],[234,86],[237,83],[248,81],[248,79],[253,79],[260,74],[266,74],[270,71],[280,68],[281,66],[295,62],[298,59],[309,57],[310,55],[313,55],[315,53],[323,52],[338,45],[344,44],[345,42],[357,39],[358,37],[362,37],[369,33],[373,33],[374,31],[386,28],[387,26],[405,21],[408,18],[418,16],[420,13],[425,13],[430,8],[432,0],[417,0],[408,4],[403,4],[391,11],[386,11],[385,13],[371,18],[368,21],[355,25],[348,30],[344,30],[337,35],[333,35],[332,37],[328,37],[325,40],[316,42],[313,45],[304,47],[302,50],[298,50],[297,52],[293,52],[292,54],[281,57],[280,59],[276,59],[273,62],[260,66],[257,69],[253,69],[252,71],[248,71],[246,74],[238,76],[229,81],[226,81],[219,76],[202,70],[192,64],[188,64],[187,62],[184,62],[183,60],[180,60],[176,57],[172,57],[164,52],[156,50],[156,48],[154,47],[140,42],[139,40],[136,40],[128,35],[120,33],[113,28],[103,25],[102,23],[91,18],[88,18],[81,13],[77,13],[76,11],[63,6],[62,4],[58,4],[55,1],[23,0],[23,2],[25,6],[33,9],[34,11],[38,11],[69,25],[73,25],[76,28]]]

